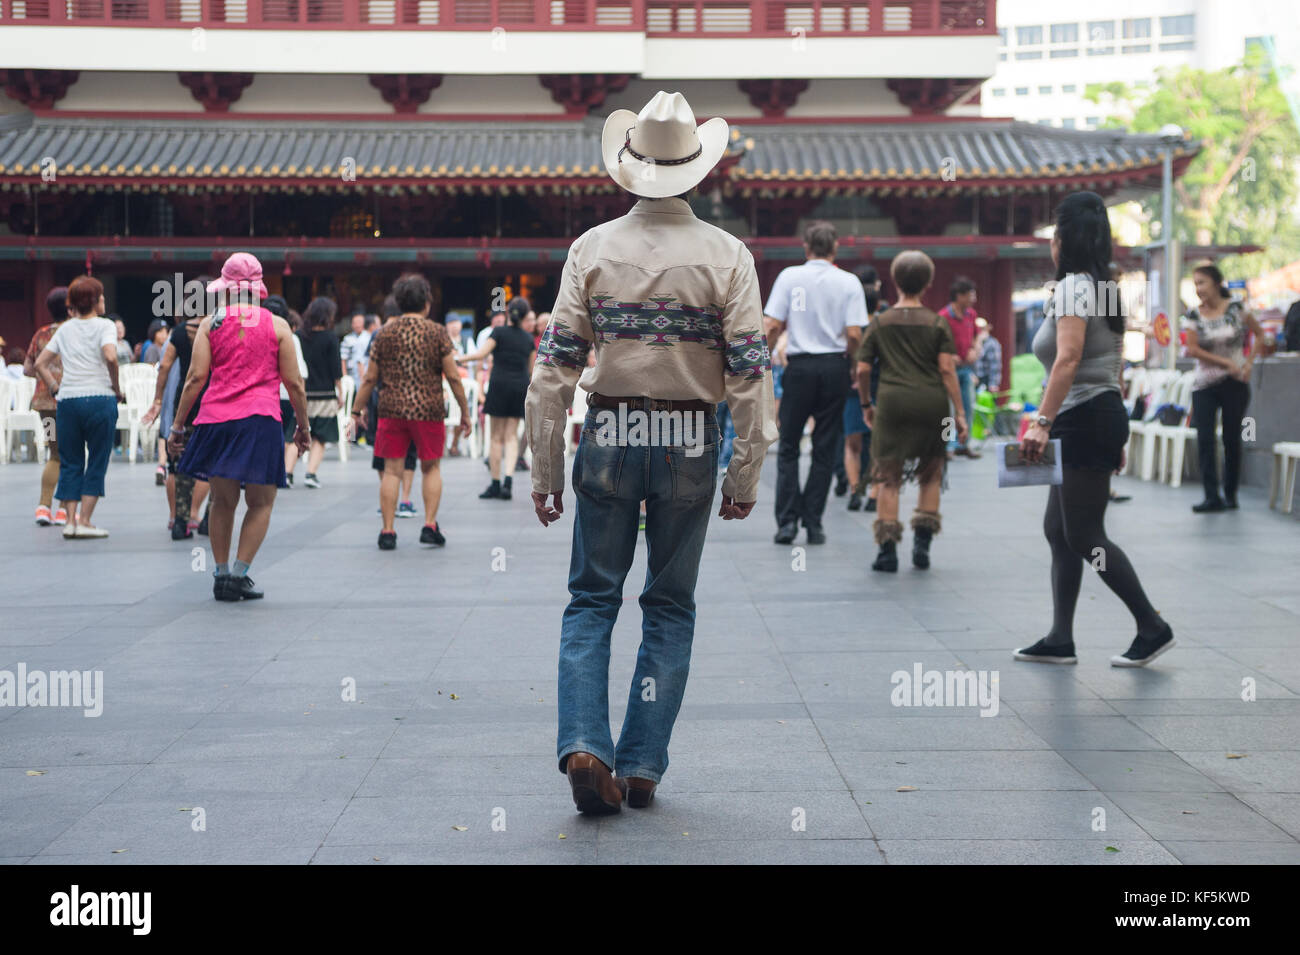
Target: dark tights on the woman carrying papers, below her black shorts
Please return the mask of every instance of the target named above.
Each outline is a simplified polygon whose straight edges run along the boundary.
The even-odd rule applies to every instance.
[[[1092,564],[1102,582],[1124,602],[1138,631],[1154,637],[1164,624],[1128,557],[1106,537],[1104,518],[1110,502],[1110,472],[1063,468],[1062,474],[1062,483],[1048,492],[1048,509],[1043,516],[1043,533],[1052,546],[1052,631],[1046,642],[1074,642],[1074,608],[1079,602],[1084,561]]]

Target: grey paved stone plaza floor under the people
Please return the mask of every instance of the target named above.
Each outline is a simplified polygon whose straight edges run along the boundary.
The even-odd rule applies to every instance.
[[[481,502],[485,469],[454,459],[446,550],[399,521],[380,552],[363,450],[280,495],[252,569],[266,599],[230,605],[192,569],[205,539],[169,539],[148,465],[109,469],[104,542],[36,528],[36,468],[0,468],[0,669],[104,674],[99,717],[0,708],[0,858],[1300,863],[1300,524],[1258,491],[1193,517],[1196,486],[1119,481],[1134,500],[1112,535],[1178,647],[1112,669],[1132,630],[1089,573],[1079,665],[1044,667],[1010,656],[1049,622],[1043,489],[998,491],[992,456],[958,460],[933,569],[881,576],[871,517],[842,500],[824,547],[771,542],[774,465],[755,515],[710,529],[659,796],[599,820],[554,755],[571,515],[542,529],[526,495]],[[644,554],[616,720],[642,576]],[[893,706],[890,674],[918,665],[997,670],[996,716]]]

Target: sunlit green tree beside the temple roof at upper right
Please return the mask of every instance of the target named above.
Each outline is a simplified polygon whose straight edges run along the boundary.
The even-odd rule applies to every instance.
[[[1128,123],[1110,120],[1108,126],[1156,133],[1174,123],[1200,140],[1200,153],[1174,183],[1179,240],[1265,246],[1269,251],[1249,256],[1253,261],[1236,262],[1252,272],[1300,257],[1300,133],[1262,55],[1252,53],[1225,70],[1162,70],[1150,88],[1093,84],[1087,96],[1132,117]],[[1160,194],[1143,205],[1149,221],[1158,222]]]

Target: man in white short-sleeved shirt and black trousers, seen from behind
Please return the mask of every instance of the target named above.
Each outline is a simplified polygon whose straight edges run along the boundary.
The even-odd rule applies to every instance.
[[[852,357],[867,325],[862,283],[835,265],[835,226],[810,222],[803,230],[807,261],[784,269],[767,298],[767,344],[786,333],[781,378],[781,444],[776,465],[776,543],[793,543],[800,524],[809,543],[826,543],[826,511],[835,453],[844,434],[844,399],[852,381]],[[812,418],[812,464],[800,489],[800,439]]]

